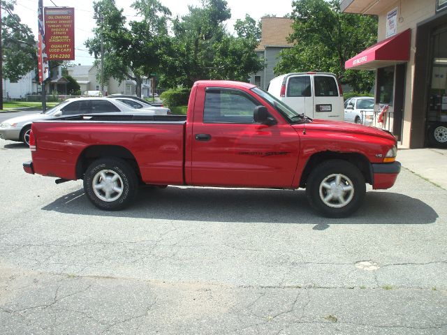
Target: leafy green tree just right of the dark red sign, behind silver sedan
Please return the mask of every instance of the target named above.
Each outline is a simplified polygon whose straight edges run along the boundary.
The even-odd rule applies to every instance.
[[[158,0],[136,0],[132,7],[141,20],[129,22],[115,0],[94,2],[97,28],[94,38],[85,45],[94,54],[98,65],[101,57],[101,36],[104,40],[104,78],[135,80],[136,94],[141,96],[142,79],[156,72],[169,45],[167,21],[170,10]],[[101,16],[102,15],[102,16]]]

